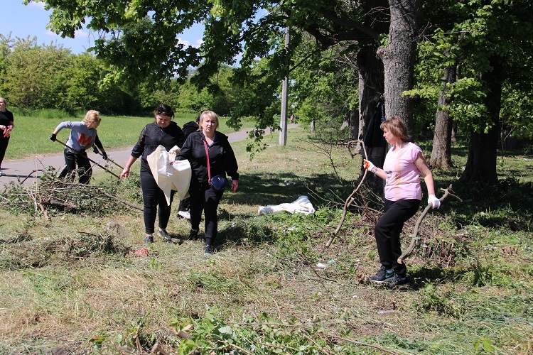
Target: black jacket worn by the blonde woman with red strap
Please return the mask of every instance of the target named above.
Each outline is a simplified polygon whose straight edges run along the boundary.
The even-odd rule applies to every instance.
[[[176,160],[189,160],[192,170],[191,180],[196,178],[200,183],[208,182],[208,160],[205,156],[204,141],[202,131],[190,133],[181,152],[176,155]],[[215,131],[215,140],[212,146],[208,146],[208,152],[211,176],[227,173],[232,180],[239,180],[237,159],[230,142],[227,141],[227,136]]]

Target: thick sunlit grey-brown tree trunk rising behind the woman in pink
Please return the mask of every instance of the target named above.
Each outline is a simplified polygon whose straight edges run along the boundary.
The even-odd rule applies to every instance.
[[[413,131],[413,105],[402,97],[412,89],[416,40],[421,18],[420,0],[389,0],[390,27],[387,47],[380,48],[385,74],[385,111],[387,118],[400,116]]]

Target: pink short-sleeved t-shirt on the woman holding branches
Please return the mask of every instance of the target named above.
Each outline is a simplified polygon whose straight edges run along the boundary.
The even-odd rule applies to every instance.
[[[389,201],[422,200],[420,185],[420,170],[416,168],[414,160],[421,153],[416,144],[407,142],[404,148],[389,149],[383,170],[387,173],[385,184],[385,198]]]

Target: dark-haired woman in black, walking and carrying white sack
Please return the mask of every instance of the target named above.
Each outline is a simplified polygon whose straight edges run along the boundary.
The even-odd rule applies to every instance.
[[[166,231],[166,226],[171,217],[171,205],[176,191],[171,192],[171,202],[167,204],[163,190],[158,187],[156,179],[152,175],[147,157],[154,153],[158,146],[165,147],[167,151],[174,146],[178,146],[178,148],[183,146],[185,136],[180,126],[172,121],[173,117],[174,111],[168,105],[160,104],[157,107],[154,111],[154,122],[144,126],[139,141],[131,150],[131,156],[124,166],[124,170],[120,173],[121,179],[129,176],[131,165],[141,158],[141,190],[143,193],[144,231],[146,232],[144,243],[146,244],[154,242],[156,216],[158,217],[159,236],[163,238],[163,241],[172,241],[172,237]]]

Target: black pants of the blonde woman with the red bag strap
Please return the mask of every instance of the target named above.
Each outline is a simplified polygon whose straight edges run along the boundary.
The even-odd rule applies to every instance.
[[[190,227],[198,231],[202,219],[202,211],[205,217],[205,244],[215,246],[218,229],[217,209],[224,190],[215,191],[204,182],[200,184],[193,177],[190,181]]]

